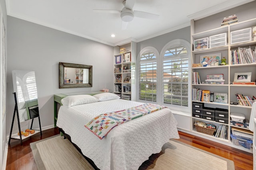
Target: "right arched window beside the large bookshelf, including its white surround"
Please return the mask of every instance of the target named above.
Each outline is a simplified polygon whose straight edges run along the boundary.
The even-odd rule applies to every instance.
[[[190,44],[182,39],[167,43],[161,53],[162,102],[176,110],[188,109]]]

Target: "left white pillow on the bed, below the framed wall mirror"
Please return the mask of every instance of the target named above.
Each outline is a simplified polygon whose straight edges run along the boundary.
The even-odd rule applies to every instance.
[[[88,104],[93,102],[98,102],[99,100],[97,98],[94,98],[91,95],[83,94],[83,95],[74,95],[74,96],[67,96],[61,100],[61,103],[64,106],[75,106],[79,104]]]

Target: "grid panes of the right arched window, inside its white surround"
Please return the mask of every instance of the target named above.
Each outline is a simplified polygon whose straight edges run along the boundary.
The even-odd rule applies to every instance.
[[[188,56],[183,46],[166,50],[163,84],[165,104],[188,107]]]

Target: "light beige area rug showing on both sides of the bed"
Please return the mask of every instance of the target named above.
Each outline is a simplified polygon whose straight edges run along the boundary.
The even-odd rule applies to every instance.
[[[38,170],[94,170],[78,150],[60,135],[30,144]],[[164,144],[139,170],[234,170],[234,162],[176,140]]]

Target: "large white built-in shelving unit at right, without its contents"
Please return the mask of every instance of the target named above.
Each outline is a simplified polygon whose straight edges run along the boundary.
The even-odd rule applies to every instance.
[[[239,18],[239,16],[238,16]],[[232,31],[237,31],[240,29],[246,29],[246,28],[252,28],[256,25],[256,18],[250,19],[247,21],[241,21],[238,23],[233,23],[230,25],[226,25],[223,27],[214,28],[211,30],[206,30],[200,33],[196,33],[196,22],[194,20],[191,20],[191,59],[192,63],[200,63],[200,56],[201,55],[209,55],[214,53],[221,53],[222,57],[226,57],[226,63],[227,65],[218,65],[218,66],[207,66],[207,67],[192,67],[192,72],[198,72],[200,75],[200,79],[202,82],[205,82],[206,75],[208,74],[224,74],[223,79],[225,80],[224,84],[191,84],[192,88],[198,88],[201,90],[210,90],[210,93],[222,93],[227,94],[227,102],[226,104],[223,103],[217,103],[217,102],[198,102],[198,101],[192,101],[198,102],[199,104],[203,104],[204,107],[208,108],[221,108],[228,110],[228,121],[225,123],[221,123],[219,121],[211,121],[198,117],[194,117],[193,114],[191,116],[191,131],[195,134],[198,134],[200,137],[205,137],[207,139],[212,139],[213,141],[217,141],[220,143],[224,143],[226,145],[230,145],[234,148],[238,148],[247,152],[253,152],[253,148],[246,149],[239,145],[233,145],[232,138],[230,137],[231,129],[232,127],[237,127],[234,125],[230,125],[230,113],[243,113],[245,115],[245,118],[250,120],[250,113],[251,113],[251,106],[241,106],[241,105],[233,105],[230,104],[230,102],[238,102],[235,94],[243,94],[244,96],[256,96],[256,86],[255,85],[235,85],[230,84],[230,82],[233,82],[234,80],[234,74],[235,73],[242,73],[242,72],[252,72],[251,79],[252,82],[255,82],[256,80],[256,63],[250,63],[250,64],[232,64],[231,61],[231,50],[238,49],[238,47],[241,48],[251,48],[255,50],[256,46],[256,40],[252,39],[252,41],[248,42],[241,42],[236,44],[231,44],[231,38],[234,38],[230,35]],[[213,35],[223,34],[226,33],[226,45],[222,45],[219,47],[214,48],[205,48],[205,49],[196,49],[194,50],[194,40],[197,39],[204,39],[206,37],[210,37]],[[208,42],[209,43],[209,42]],[[193,108],[192,111],[193,112]],[[212,135],[207,135],[204,133],[197,132],[194,127],[195,121],[203,121],[205,123],[213,123],[217,126],[217,129],[220,125],[227,125],[228,127],[228,136],[227,139],[221,139],[214,137]],[[254,122],[250,122],[254,123]],[[247,129],[244,127],[238,127],[241,129]],[[255,135],[254,135],[255,137]],[[255,149],[255,146],[254,146]],[[255,165],[254,165],[255,167]]]

